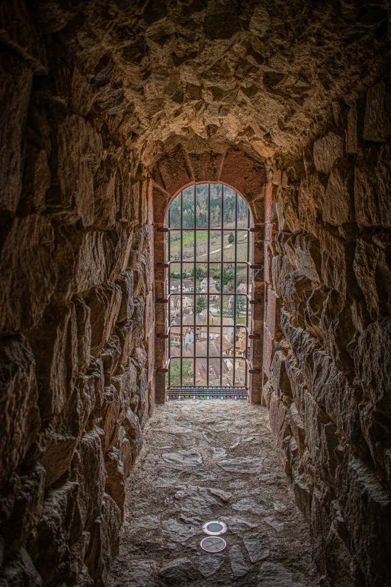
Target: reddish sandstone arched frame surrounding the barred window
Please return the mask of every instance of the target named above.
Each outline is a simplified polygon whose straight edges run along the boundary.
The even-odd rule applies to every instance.
[[[149,244],[153,251],[151,279],[154,282],[152,296],[146,305],[145,321],[148,333],[149,380],[155,389],[155,402],[165,398],[165,374],[159,372],[165,366],[165,340],[159,335],[165,332],[165,306],[157,302],[164,298],[164,226],[165,213],[178,191],[193,183],[220,182],[240,193],[251,210],[254,220],[254,264],[264,263],[264,195],[266,170],[258,161],[243,151],[228,149],[226,153],[188,153],[178,146],[164,154],[152,171],[148,190]],[[264,275],[254,271],[253,332],[259,339],[253,340],[251,361],[259,367],[259,374],[251,376],[250,401],[260,403],[262,390]],[[154,312],[153,312],[154,310]]]

